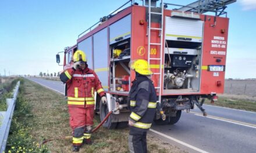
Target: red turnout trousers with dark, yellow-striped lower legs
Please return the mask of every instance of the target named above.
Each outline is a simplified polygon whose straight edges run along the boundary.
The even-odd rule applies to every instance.
[[[81,146],[83,139],[91,138],[94,107],[69,107],[69,125],[72,128],[73,145]]]

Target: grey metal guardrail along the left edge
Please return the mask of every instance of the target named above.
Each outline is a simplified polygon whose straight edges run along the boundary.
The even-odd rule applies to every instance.
[[[6,99],[6,103],[8,105],[7,111],[5,112],[3,122],[1,124],[0,130],[0,152],[5,151],[9,130],[10,130],[10,122],[12,122],[12,115],[15,108],[15,103],[17,99],[17,94],[19,92],[20,82],[17,82],[15,89],[13,89],[13,98]]]

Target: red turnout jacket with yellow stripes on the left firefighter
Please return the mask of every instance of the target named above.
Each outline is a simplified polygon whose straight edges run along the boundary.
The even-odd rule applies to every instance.
[[[105,92],[97,74],[90,68],[75,70],[69,68],[60,75],[61,81],[67,85],[67,104],[69,107],[94,107],[94,91],[99,96]]]

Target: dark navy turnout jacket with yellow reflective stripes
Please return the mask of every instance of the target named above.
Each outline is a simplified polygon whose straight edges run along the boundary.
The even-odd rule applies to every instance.
[[[134,121],[132,128],[147,130],[151,127],[155,116],[157,94],[150,79],[142,75],[136,78],[129,93],[131,111],[129,119]]]

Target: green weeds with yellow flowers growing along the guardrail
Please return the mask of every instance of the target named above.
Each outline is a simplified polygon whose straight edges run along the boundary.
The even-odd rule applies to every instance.
[[[31,114],[29,101],[24,98],[24,92],[24,81],[20,79],[19,94],[16,99],[6,152],[47,152],[48,149],[45,146],[38,147],[38,143],[30,133],[33,129],[30,122],[33,114]]]

